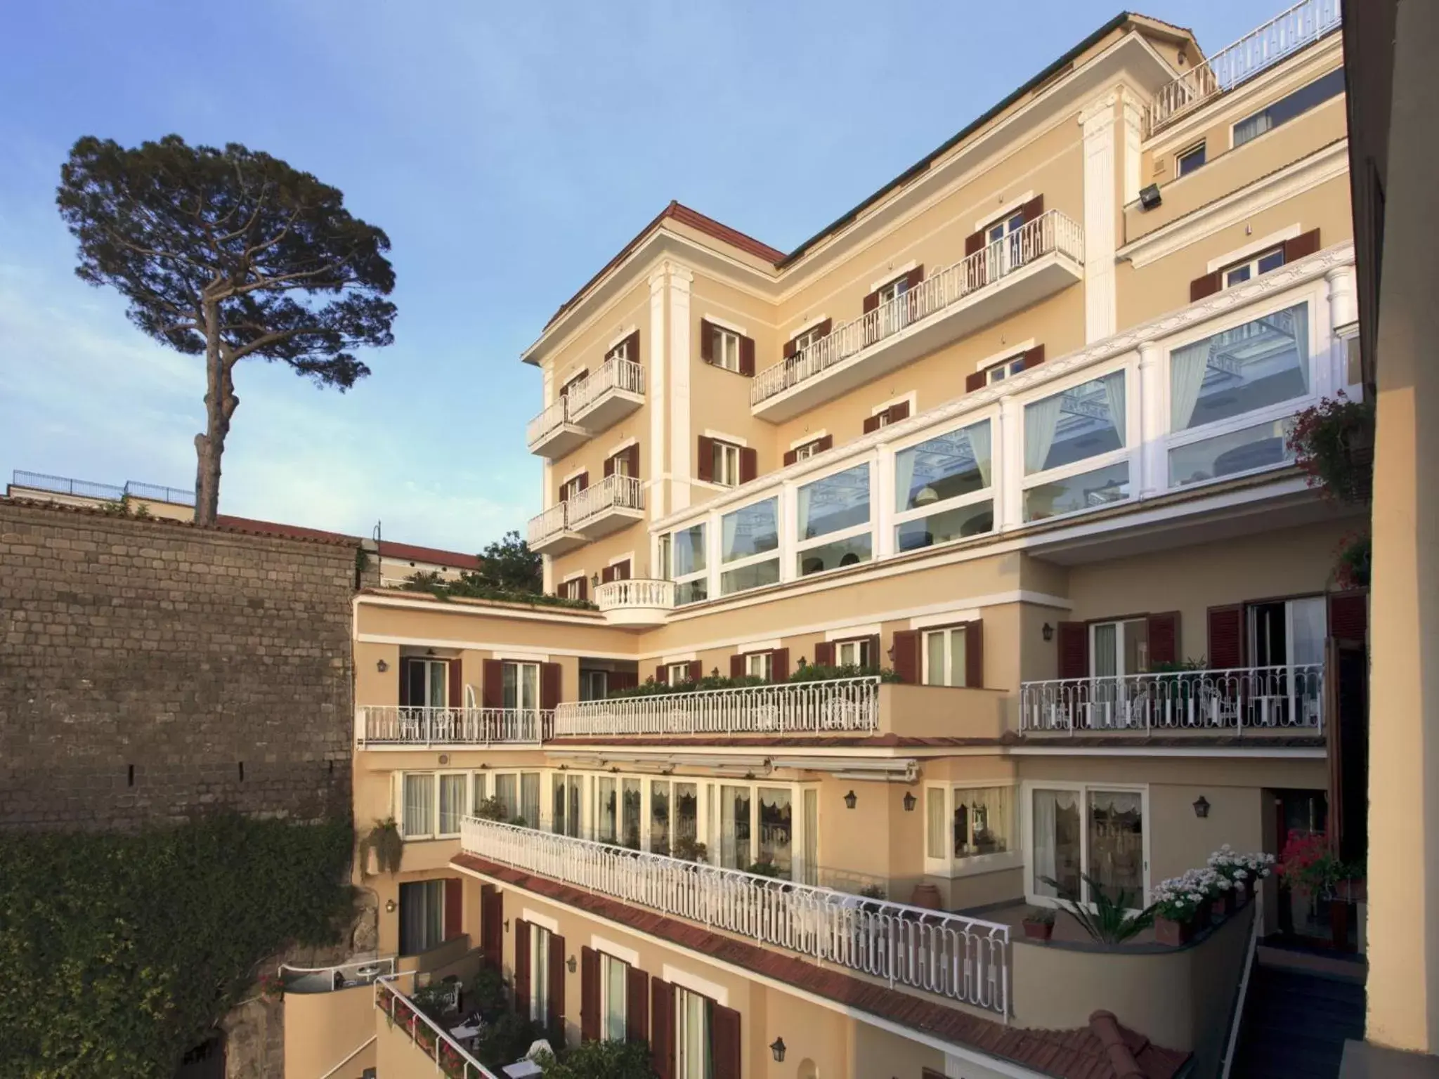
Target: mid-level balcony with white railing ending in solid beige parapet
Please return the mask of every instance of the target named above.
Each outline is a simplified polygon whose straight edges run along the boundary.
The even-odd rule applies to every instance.
[[[999,738],[1004,695],[909,686],[878,678],[776,682],[737,689],[574,701],[554,712],[554,737],[872,735]]]

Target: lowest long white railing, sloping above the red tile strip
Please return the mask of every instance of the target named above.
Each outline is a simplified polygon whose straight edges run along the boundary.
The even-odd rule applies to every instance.
[[[469,817],[460,847],[632,906],[1007,1014],[1009,927]]]

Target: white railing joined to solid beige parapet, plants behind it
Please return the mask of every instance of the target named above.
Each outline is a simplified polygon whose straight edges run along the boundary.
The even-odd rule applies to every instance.
[[[554,711],[554,734],[836,734],[879,728],[879,679],[780,682],[609,701]]]

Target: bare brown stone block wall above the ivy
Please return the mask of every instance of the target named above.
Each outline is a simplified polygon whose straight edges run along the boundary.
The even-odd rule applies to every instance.
[[[350,544],[0,499],[0,827],[350,811]]]

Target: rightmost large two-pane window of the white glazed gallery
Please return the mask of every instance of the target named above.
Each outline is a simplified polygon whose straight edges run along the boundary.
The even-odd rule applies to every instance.
[[[1285,463],[1309,393],[1308,304],[1170,350],[1170,485]]]

